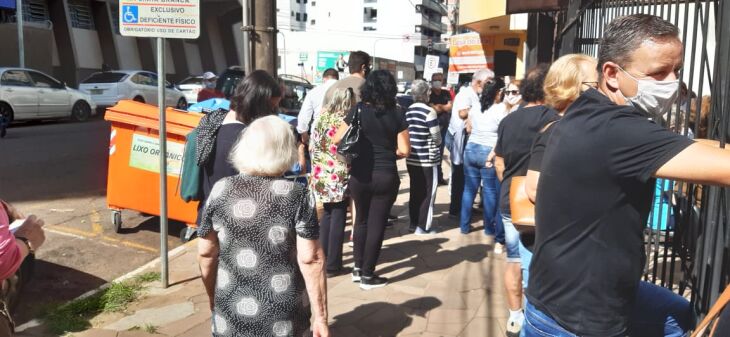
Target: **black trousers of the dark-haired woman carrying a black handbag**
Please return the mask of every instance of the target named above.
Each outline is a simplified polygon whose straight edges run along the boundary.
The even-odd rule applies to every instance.
[[[373,276],[383,246],[388,213],[398,196],[400,179],[396,171],[373,171],[369,181],[352,176],[349,187],[357,209],[355,268],[362,269],[364,276]]]

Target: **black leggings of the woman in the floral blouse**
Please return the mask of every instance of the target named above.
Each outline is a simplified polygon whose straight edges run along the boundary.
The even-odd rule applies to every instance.
[[[327,257],[327,270],[342,269],[342,243],[345,239],[345,217],[347,200],[324,203],[324,214],[319,222],[319,240],[322,242],[324,256]]]

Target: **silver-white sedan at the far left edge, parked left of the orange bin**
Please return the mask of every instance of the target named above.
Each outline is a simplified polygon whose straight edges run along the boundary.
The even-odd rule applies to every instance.
[[[40,71],[0,68],[0,115],[8,121],[72,118],[85,121],[96,104],[81,91]]]

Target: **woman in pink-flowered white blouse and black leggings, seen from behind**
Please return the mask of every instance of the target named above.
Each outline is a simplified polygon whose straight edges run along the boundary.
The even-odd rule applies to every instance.
[[[312,152],[311,189],[317,203],[324,207],[319,224],[319,238],[327,257],[328,277],[343,273],[342,243],[347,216],[345,190],[350,178],[349,167],[337,155],[337,145],[333,139],[337,126],[354,104],[355,95],[352,89],[336,90],[330,103],[323,108],[315,121],[309,144]]]

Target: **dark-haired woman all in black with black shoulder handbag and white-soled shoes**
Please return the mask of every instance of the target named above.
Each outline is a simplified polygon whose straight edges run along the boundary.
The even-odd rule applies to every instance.
[[[335,135],[338,152],[351,161],[349,189],[355,200],[355,269],[352,280],[369,290],[388,283],[375,274],[388,213],[400,187],[396,160],[410,153],[408,124],[396,105],[398,88],[386,70],[373,71],[361,88],[362,102]]]

